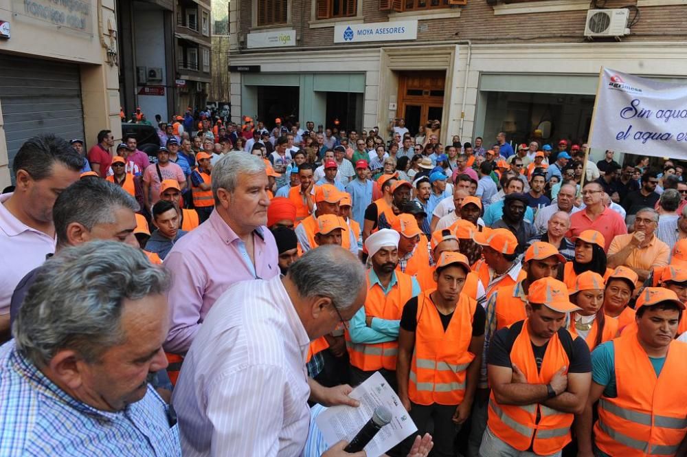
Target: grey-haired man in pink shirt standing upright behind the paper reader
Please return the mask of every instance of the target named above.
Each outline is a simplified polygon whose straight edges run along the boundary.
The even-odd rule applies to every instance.
[[[165,350],[183,356],[214,302],[236,282],[279,276],[278,249],[267,230],[267,172],[259,157],[229,154],[212,168],[215,210],[174,244],[170,334]]]

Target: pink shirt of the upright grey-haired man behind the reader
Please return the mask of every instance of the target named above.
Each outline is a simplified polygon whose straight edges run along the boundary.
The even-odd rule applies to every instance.
[[[170,333],[165,350],[185,353],[207,311],[229,286],[279,276],[279,254],[272,233],[258,227],[253,243],[255,264],[251,265],[243,241],[213,211],[207,221],[174,244],[164,261],[174,278],[168,294]]]

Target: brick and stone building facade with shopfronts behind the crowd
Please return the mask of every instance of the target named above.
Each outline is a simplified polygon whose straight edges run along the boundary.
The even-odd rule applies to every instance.
[[[232,1],[232,115],[584,141],[601,66],[684,80],[685,4],[609,0],[629,34],[590,41],[587,0]]]

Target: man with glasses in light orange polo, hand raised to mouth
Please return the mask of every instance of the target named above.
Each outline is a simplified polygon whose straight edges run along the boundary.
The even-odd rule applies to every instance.
[[[655,267],[668,265],[671,248],[655,236],[658,213],[653,208],[642,208],[635,214],[633,233],[613,238],[608,248],[608,267],[629,267],[641,282]]]

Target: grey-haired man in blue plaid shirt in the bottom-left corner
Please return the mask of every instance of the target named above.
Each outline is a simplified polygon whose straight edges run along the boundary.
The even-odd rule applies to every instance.
[[[167,366],[168,271],[110,241],[46,266],[0,348],[0,454],[181,456],[148,384]]]

